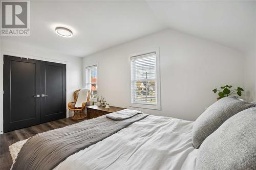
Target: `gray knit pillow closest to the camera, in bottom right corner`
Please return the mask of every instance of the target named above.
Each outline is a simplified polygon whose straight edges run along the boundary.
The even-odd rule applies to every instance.
[[[256,169],[256,107],[230,117],[204,140],[196,169]]]

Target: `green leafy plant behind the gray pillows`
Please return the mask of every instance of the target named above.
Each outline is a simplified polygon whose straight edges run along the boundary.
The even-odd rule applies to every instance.
[[[242,91],[244,91],[244,89],[242,89],[241,87],[235,88],[235,89],[231,89],[233,86],[231,85],[225,85],[225,86],[221,86],[221,90],[218,90],[217,88],[212,90],[214,93],[217,93],[217,91],[219,92],[219,98],[217,98],[217,101],[221,98],[225,98],[227,96],[230,95],[236,95],[238,94],[239,96],[242,95]]]

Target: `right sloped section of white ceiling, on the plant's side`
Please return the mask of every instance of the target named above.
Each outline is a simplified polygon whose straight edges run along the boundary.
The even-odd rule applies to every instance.
[[[256,1],[148,1],[168,28],[248,51],[255,48]]]

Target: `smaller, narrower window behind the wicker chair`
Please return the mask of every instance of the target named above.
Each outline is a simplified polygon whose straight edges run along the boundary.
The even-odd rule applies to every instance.
[[[86,67],[86,88],[91,91],[91,99],[97,99],[98,68],[97,65]]]

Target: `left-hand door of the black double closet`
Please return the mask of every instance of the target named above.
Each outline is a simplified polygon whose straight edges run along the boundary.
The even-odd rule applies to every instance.
[[[4,132],[40,123],[39,96],[40,61],[4,55]]]

